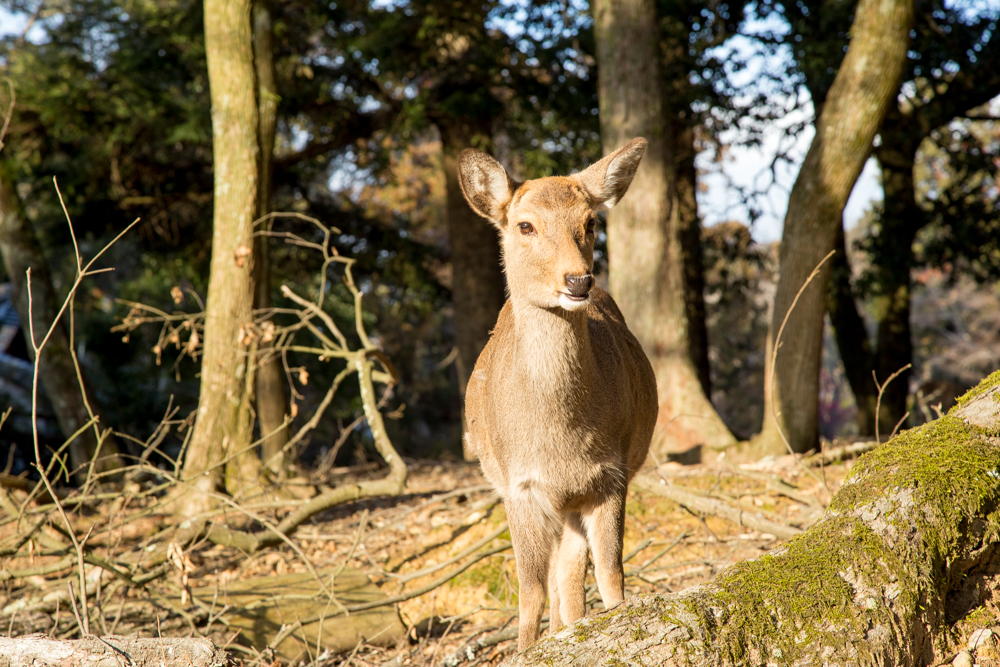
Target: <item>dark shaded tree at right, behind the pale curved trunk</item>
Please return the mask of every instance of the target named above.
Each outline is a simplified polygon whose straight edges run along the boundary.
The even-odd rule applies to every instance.
[[[870,268],[863,272],[858,285],[852,285],[847,245],[841,233],[830,286],[831,323],[858,404],[858,431],[865,436],[875,433],[878,388],[872,372],[880,383],[885,382],[914,360],[910,303],[912,272],[918,263],[918,234],[932,221],[948,225],[955,232],[949,245],[958,248],[965,245],[959,230],[974,225],[976,219],[973,200],[958,200],[957,206],[937,215],[932,202],[924,203],[927,200],[916,185],[918,154],[939,128],[1000,94],[1000,40],[991,38],[997,17],[988,12],[970,15],[940,3],[919,3],[917,9],[904,83],[896,103],[886,113],[879,131],[880,142],[874,149],[882,172],[884,198],[875,224],[861,241]],[[956,157],[962,159],[960,155],[971,152],[971,147],[962,146]],[[988,161],[981,166],[987,172],[993,170]],[[874,344],[868,339],[858,311],[861,296],[874,299]],[[908,412],[911,375],[912,370],[903,370],[886,387],[879,414],[880,430],[891,431]]]

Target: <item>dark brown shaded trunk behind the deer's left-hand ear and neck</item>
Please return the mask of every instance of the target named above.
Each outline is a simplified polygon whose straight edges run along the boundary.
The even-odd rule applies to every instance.
[[[500,240],[493,225],[476,215],[458,185],[458,154],[490,136],[489,127],[475,128],[459,119],[438,122],[444,153],[446,214],[451,244],[451,294],[455,311],[456,368],[462,396],[469,373],[490,339],[506,299],[500,267]],[[463,417],[464,421],[464,417]],[[463,427],[464,432],[464,427]],[[469,453],[465,439],[462,451]]]

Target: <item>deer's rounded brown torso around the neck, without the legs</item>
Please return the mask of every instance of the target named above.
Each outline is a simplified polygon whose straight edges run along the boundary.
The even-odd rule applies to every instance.
[[[469,445],[504,496],[540,485],[562,505],[586,502],[630,479],[656,422],[656,381],[611,296],[594,289],[587,308],[593,373],[532,377],[516,358],[508,301],[466,389]]]

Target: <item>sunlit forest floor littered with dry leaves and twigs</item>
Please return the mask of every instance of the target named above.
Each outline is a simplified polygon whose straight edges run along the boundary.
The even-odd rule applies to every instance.
[[[695,465],[670,462],[650,467],[643,474],[658,478],[663,485],[739,508],[744,516],[803,529],[819,518],[851,465],[847,461],[807,467],[790,456],[734,465],[725,457],[716,460],[717,456],[710,453],[706,457],[710,461]],[[248,556],[207,540],[183,549],[177,545],[171,547],[171,558],[167,567],[161,568],[161,576],[140,587],[123,583],[121,577],[95,565],[99,561],[92,558],[84,565],[91,632],[205,636],[225,646],[244,665],[254,666],[295,662],[288,648],[293,645],[301,649],[303,663],[317,667],[347,663],[497,664],[515,650],[517,624],[517,579],[503,504],[476,464],[408,463],[405,495],[327,510],[301,526],[280,547]],[[323,480],[311,481],[339,486],[383,474],[373,467],[362,471],[334,469]],[[778,478],[787,486],[775,484]],[[26,497],[16,490],[7,493],[16,503]],[[153,495],[145,499],[133,496],[128,501],[122,494],[118,496],[77,505],[70,520],[76,534],[87,537],[88,553],[122,564],[129,562],[130,554],[151,551],[169,539],[176,520],[157,513],[159,505]],[[33,508],[36,514],[32,514]],[[0,520],[0,634],[44,633],[72,638],[81,633],[81,619],[70,602],[70,586],[75,583],[79,590],[80,578],[75,570],[77,552],[65,546],[60,551],[53,543],[58,533],[65,535],[59,521],[50,518],[37,532],[37,540],[17,545],[13,553],[3,550],[18,540],[16,535],[24,532],[26,523],[43,516],[42,509],[29,505],[21,528],[13,517]],[[271,504],[256,511],[278,519],[288,510]],[[227,521],[240,525],[239,513],[233,514]],[[778,543],[773,534],[699,514],[633,488],[626,508],[626,594],[675,592],[697,585],[728,565],[760,556]],[[246,599],[227,598],[227,590],[237,582],[249,582],[251,589],[255,582],[262,582],[263,589],[268,582],[283,582],[291,574],[305,573],[308,578],[323,573],[325,577],[331,570],[340,577],[345,572],[366,574],[381,589],[376,595],[422,594],[397,603],[401,623],[395,630],[390,628],[388,635],[357,642],[351,639],[350,644],[335,650],[304,645],[301,633],[292,627],[290,617],[296,612],[286,612],[290,617],[281,618],[283,624],[275,628],[284,628],[286,636],[291,635],[277,653],[268,648],[268,644],[278,646],[274,632],[255,636],[246,629],[241,632],[234,621],[233,613]],[[323,598],[319,585],[310,590],[315,593],[298,596],[299,603],[303,597]],[[204,591],[214,593],[206,597]],[[258,607],[267,606],[267,595],[262,594],[265,603]],[[591,610],[602,608],[592,572],[587,601]],[[338,626],[344,630],[358,622],[357,615],[338,616],[336,609],[329,611],[329,601],[324,609],[328,610],[324,614],[339,619],[334,626],[331,620],[320,619],[326,623],[324,628],[334,628],[325,630],[328,637],[337,633]],[[382,612],[395,622],[392,604],[385,604]],[[318,638],[316,641],[320,643]]]

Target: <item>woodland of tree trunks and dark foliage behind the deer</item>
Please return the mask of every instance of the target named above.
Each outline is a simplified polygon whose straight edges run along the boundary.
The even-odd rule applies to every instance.
[[[470,146],[523,180],[650,140],[596,272],[657,373],[657,464],[884,441],[1000,367],[994,0],[0,6],[8,523],[141,488],[208,520],[178,544],[254,554],[308,518],[295,503],[344,503],[345,471],[384,460],[362,496],[402,493],[396,452],[414,494],[478,489],[457,463],[462,391],[504,285],[458,190]],[[740,151],[769,164],[728,184],[737,219],[703,225],[709,176]],[[845,230],[869,159],[884,197]],[[781,241],[755,241],[796,170]],[[113,271],[81,280],[113,239],[93,267]],[[29,315],[36,345],[50,332],[37,363]],[[425,461],[459,472],[434,482]],[[231,502],[271,503],[274,525],[220,519]],[[360,541],[367,516],[338,529]],[[86,589],[84,529],[61,521]]]

